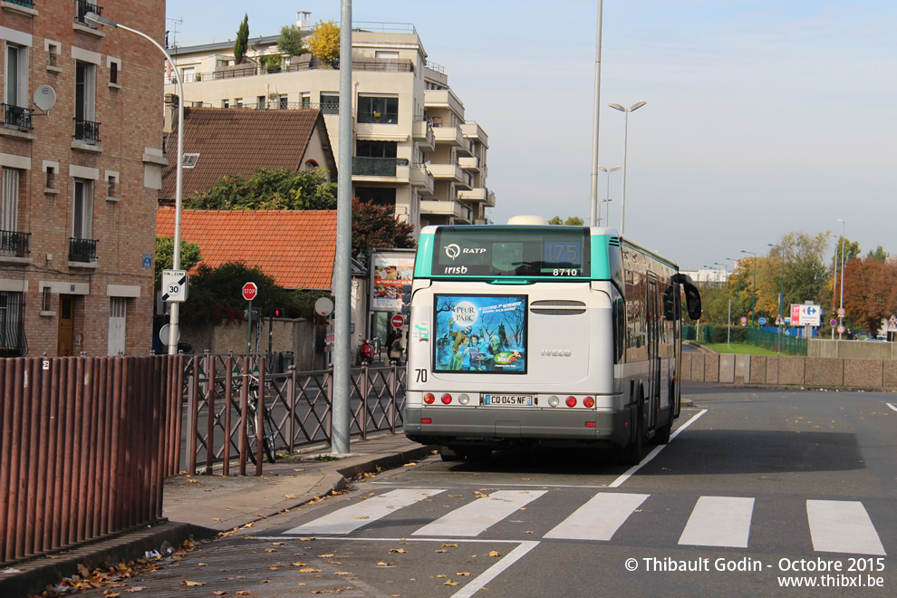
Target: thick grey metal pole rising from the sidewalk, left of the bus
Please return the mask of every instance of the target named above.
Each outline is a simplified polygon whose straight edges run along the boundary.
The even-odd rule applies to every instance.
[[[336,198],[336,259],[333,264],[335,295],[333,329],[333,438],[335,454],[349,452],[349,400],[352,375],[352,0],[342,0],[340,24],[340,155]]]

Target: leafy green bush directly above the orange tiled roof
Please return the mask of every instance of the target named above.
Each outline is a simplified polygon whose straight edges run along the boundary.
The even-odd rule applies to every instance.
[[[223,177],[184,200],[188,209],[333,209],[336,183],[326,169],[256,169],[249,178]]]

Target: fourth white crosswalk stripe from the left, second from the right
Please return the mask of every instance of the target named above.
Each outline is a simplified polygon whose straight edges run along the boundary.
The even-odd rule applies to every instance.
[[[743,497],[699,497],[680,545],[747,548],[754,499]]]

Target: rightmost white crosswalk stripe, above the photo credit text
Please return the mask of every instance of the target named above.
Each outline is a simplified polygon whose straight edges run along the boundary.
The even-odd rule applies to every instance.
[[[807,500],[806,518],[815,551],[887,556],[872,519],[858,500]]]

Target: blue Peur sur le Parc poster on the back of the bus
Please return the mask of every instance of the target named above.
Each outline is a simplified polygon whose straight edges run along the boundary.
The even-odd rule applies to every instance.
[[[526,373],[526,295],[435,299],[434,371]]]

